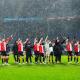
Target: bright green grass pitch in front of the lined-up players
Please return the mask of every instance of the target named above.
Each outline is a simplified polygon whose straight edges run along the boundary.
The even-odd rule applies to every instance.
[[[67,64],[66,56],[62,64],[17,65],[11,55],[9,63],[0,65],[0,80],[80,80],[80,64]]]

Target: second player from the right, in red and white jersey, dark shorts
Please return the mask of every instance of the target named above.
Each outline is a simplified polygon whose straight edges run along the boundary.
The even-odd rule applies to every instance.
[[[72,42],[66,41],[66,51],[68,53],[68,63],[72,63]]]

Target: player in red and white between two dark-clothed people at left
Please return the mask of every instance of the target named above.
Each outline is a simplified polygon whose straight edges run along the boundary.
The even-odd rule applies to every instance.
[[[21,63],[20,57],[22,57],[22,62],[24,64],[23,43],[21,39],[18,39],[17,46],[18,46],[18,62],[19,64]]]

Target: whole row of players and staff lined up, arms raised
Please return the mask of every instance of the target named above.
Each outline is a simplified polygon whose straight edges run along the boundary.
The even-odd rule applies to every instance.
[[[51,41],[47,36],[45,39],[35,38],[32,44],[29,38],[25,42],[19,38],[10,48],[8,44],[12,39],[13,36],[10,36],[0,41],[2,64],[8,64],[10,53],[14,56],[14,62],[19,64],[33,63],[33,57],[36,64],[61,63],[63,53],[67,53],[68,63],[72,63],[73,58],[75,63],[79,62],[80,42],[77,40],[72,41],[69,38],[60,40],[57,37]]]

